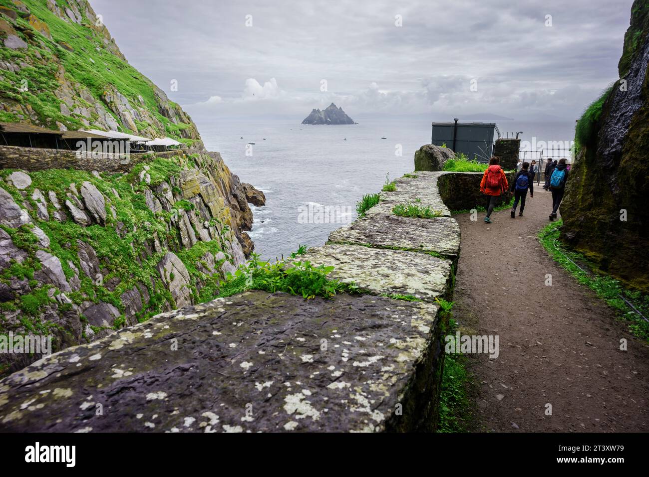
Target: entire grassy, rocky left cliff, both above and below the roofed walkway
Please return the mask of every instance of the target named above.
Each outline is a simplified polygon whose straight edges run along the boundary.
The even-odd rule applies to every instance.
[[[0,0],[0,121],[171,136],[125,170],[0,170],[0,336],[54,351],[214,299],[253,244],[244,189],[85,0]],[[29,152],[24,149],[23,152]],[[43,169],[43,168],[39,168]],[[83,169],[83,170],[81,170]],[[0,375],[38,355],[0,355]]]

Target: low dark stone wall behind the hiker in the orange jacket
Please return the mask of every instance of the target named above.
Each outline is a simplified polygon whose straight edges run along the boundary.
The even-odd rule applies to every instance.
[[[444,203],[452,211],[462,211],[473,209],[474,207],[485,206],[485,195],[480,192],[480,181],[482,181],[482,172],[448,172],[439,177],[437,187],[439,195]],[[516,177],[515,172],[506,172],[509,187]],[[511,200],[513,194],[507,191],[502,194],[496,205],[506,204]]]

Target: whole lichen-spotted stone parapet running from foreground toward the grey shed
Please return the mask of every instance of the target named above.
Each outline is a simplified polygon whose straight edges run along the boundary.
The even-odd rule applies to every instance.
[[[0,430],[434,431],[448,325],[437,299],[452,299],[459,257],[446,175],[396,180],[302,257],[360,295],[245,292],[69,348],[0,381]],[[440,216],[393,215],[406,202]]]

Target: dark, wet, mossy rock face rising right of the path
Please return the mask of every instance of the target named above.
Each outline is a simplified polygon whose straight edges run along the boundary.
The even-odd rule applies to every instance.
[[[577,126],[561,238],[601,270],[649,292],[649,1],[635,0],[620,80]]]

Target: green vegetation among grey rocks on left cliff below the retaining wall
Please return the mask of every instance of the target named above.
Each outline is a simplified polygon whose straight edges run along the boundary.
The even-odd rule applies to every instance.
[[[185,162],[183,162],[185,161]],[[6,177],[13,172],[12,170],[0,170],[0,178],[5,180],[2,183],[3,189],[10,193],[18,204],[31,207],[30,213],[32,222],[40,227],[50,239],[50,246],[46,250],[60,259],[61,266],[66,279],[78,275],[80,279],[80,290],[66,293],[67,297],[76,305],[84,301],[98,303],[104,301],[114,305],[122,316],[117,318],[113,323],[114,328],[118,329],[125,323],[124,305],[121,294],[141,284],[148,289],[149,303],[144,303],[143,310],[136,316],[138,321],[144,321],[163,312],[166,309],[177,308],[171,293],[162,284],[160,274],[156,266],[160,259],[167,253],[163,248],[161,251],[147,252],[147,241],[151,238],[158,237],[160,242],[166,241],[169,247],[177,251],[178,258],[186,265],[190,275],[190,292],[197,303],[213,299],[219,292],[219,276],[205,273],[208,264],[202,261],[206,253],[216,254],[219,251],[227,250],[223,234],[227,233],[227,224],[220,224],[214,220],[213,226],[221,229],[219,240],[210,242],[198,242],[193,248],[181,249],[178,237],[175,233],[175,227],[170,222],[173,218],[172,213],[160,211],[153,213],[145,202],[145,189],[149,185],[140,181],[138,176],[143,167],[147,165],[149,172],[154,178],[162,182],[162,178],[169,183],[173,176],[177,176],[181,167],[179,163],[187,163],[186,159],[176,157],[174,159],[158,158],[146,164],[138,164],[132,172],[120,176],[119,174],[101,174],[101,178],[93,176],[90,172],[81,170],[43,170],[31,172],[31,185],[24,191],[25,197],[15,187],[6,181]],[[168,174],[168,175],[165,175]],[[66,208],[66,193],[69,192],[71,183],[75,183],[77,190],[84,181],[95,185],[97,189],[106,198],[106,226],[102,227],[93,224],[88,227],[82,227],[73,222],[70,218],[66,222],[57,222],[53,219],[55,212],[54,205],[49,198],[48,212],[50,220],[40,220],[36,216],[36,202],[32,199],[32,193],[35,189],[43,192],[47,198],[47,192],[52,191],[58,197],[58,202]],[[153,181],[153,179],[152,179]],[[178,201],[175,207],[185,209],[183,202]],[[196,213],[188,207],[187,213]],[[112,216],[111,209],[115,211],[115,218]],[[123,237],[116,231],[117,224],[121,223],[123,227]],[[9,285],[12,279],[28,280],[31,286],[31,292],[13,301],[5,301],[0,304],[0,308],[6,312],[21,311],[21,325],[27,329],[40,329],[45,331],[51,326],[51,323],[42,323],[40,315],[43,309],[49,303],[54,303],[54,298],[49,297],[47,291],[49,285],[40,285],[40,282],[34,280],[34,273],[41,269],[41,264],[36,259],[36,251],[40,246],[37,244],[36,236],[32,233],[32,224],[27,224],[12,229],[1,226],[12,238],[14,244],[27,253],[27,259],[22,263],[13,261],[0,273],[0,281]],[[169,232],[172,231],[172,233]],[[79,245],[77,240],[90,244],[97,253],[97,257],[102,266],[101,280],[97,277],[88,277],[82,272],[80,259],[77,255]],[[215,265],[219,267],[223,260]],[[75,268],[78,272],[75,272]],[[110,285],[109,285],[110,284]],[[59,291],[56,290],[55,294]],[[71,305],[59,305],[59,309],[64,311]],[[63,309],[62,309],[63,308]],[[0,334],[6,334],[9,331],[8,324],[0,321]]]

